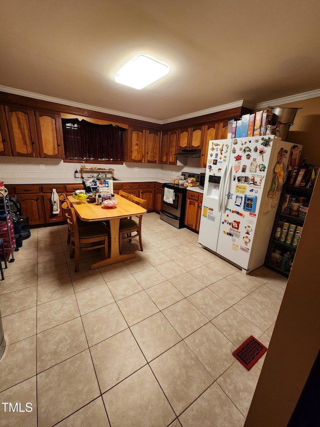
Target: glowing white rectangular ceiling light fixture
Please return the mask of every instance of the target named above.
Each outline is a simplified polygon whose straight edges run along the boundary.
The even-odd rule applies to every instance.
[[[116,73],[115,81],[134,89],[143,89],[168,72],[168,66],[144,55],[139,55]]]

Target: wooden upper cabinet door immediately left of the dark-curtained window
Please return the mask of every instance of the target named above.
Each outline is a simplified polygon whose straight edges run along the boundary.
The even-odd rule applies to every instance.
[[[40,157],[62,159],[64,153],[60,115],[35,111],[35,121]]]

